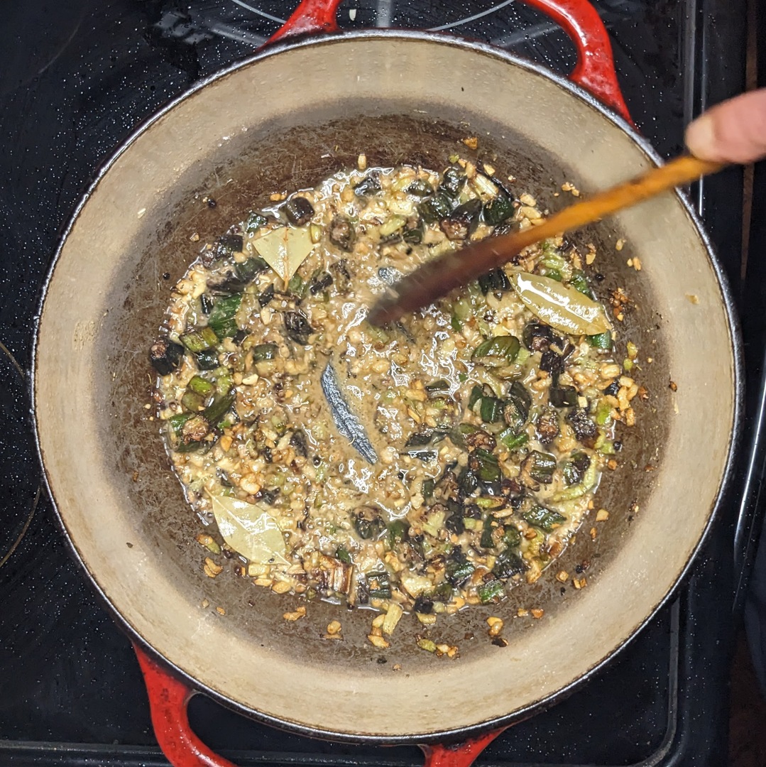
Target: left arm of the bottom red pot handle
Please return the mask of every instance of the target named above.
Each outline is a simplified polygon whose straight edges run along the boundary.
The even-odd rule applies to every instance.
[[[133,644],[149,693],[154,736],[173,767],[235,767],[228,759],[212,752],[192,732],[186,707],[195,694],[185,683]]]

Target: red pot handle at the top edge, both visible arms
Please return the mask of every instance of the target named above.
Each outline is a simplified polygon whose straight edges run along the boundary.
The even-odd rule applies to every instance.
[[[570,80],[584,87],[602,104],[613,109],[620,117],[633,125],[617,80],[609,33],[596,8],[590,4],[590,0],[523,0],[523,2],[550,16],[571,38],[577,48],[577,66],[570,74]],[[274,35],[271,35],[265,44],[294,35],[337,31],[338,5],[340,0],[302,0],[298,8],[295,8],[293,15]]]

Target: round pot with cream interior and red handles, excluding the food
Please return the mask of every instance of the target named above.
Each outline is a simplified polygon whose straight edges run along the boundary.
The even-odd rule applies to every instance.
[[[613,71],[603,76],[610,49],[590,5],[534,4],[552,6],[570,31],[597,35],[580,47],[577,78],[626,115]],[[319,5],[318,24],[301,16],[303,31],[332,26],[337,0]],[[469,135],[478,137],[473,153],[461,143]],[[71,222],[38,324],[38,445],[77,558],[150,653],[140,658],[153,719],[176,765],[228,764],[189,732],[190,690],[307,735],[385,743],[481,735],[462,755],[427,749],[433,764],[467,763],[498,728],[613,657],[666,601],[702,542],[732,462],[739,341],[699,222],[682,196],[667,194],[577,237],[597,246],[600,297],[618,286],[630,296],[616,353],[636,344],[636,379],[649,392],[597,496],[610,519],[595,541],[587,519],[534,586],[440,619],[431,635],[459,645],[459,658],[419,650],[423,627],[414,620],[401,621],[382,653],[366,640],[368,611],[312,603],[288,623],[282,615],[298,597],[257,588],[229,568],[205,577],[195,515],[144,407],[147,350],[170,286],[198,255],[191,235],[213,239],[269,193],[314,186],[360,153],[370,166],[441,169],[455,152],[516,176],[515,189],[550,209],[567,201],[553,194],[565,180],[587,194],[658,161],[587,91],[503,51],[418,32],[330,34],[277,44],[171,104],[110,160]],[[626,265],[631,257],[641,271]],[[562,592],[554,575],[577,565],[587,588]],[[515,617],[519,607],[544,617]],[[491,614],[504,618],[508,647],[490,644]],[[344,640],[322,640],[335,618]]]

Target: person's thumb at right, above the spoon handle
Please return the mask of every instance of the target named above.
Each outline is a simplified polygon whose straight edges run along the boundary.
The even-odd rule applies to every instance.
[[[766,156],[766,88],[717,104],[686,128],[686,146],[702,160],[754,163]]]

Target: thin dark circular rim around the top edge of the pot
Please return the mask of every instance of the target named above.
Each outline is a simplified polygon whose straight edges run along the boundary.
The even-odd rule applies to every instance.
[[[528,706],[524,706],[524,708],[522,709],[517,709],[513,713],[508,713],[504,716],[497,716],[491,719],[485,719],[485,720],[482,720],[481,722],[472,724],[470,726],[439,730],[436,732],[429,732],[422,735],[381,736],[376,734],[350,734],[348,732],[334,732],[333,730],[329,730],[329,729],[320,729],[320,728],[307,726],[298,722],[292,722],[288,719],[279,719],[278,717],[271,716],[267,713],[262,713],[255,709],[248,708],[248,706],[244,706],[240,703],[237,703],[236,701],[229,699],[228,697],[222,695],[221,693],[215,690],[212,690],[208,686],[196,680],[194,676],[191,676],[189,673],[186,673],[185,671],[179,669],[179,667],[177,667],[174,663],[171,663],[169,660],[167,660],[166,657],[162,655],[162,653],[159,653],[157,650],[155,650],[154,647],[152,647],[144,639],[144,637],[141,636],[135,628],[133,628],[133,626],[128,621],[127,617],[124,617],[123,614],[121,614],[120,611],[117,610],[117,607],[114,606],[112,601],[110,601],[110,598],[107,597],[107,594],[100,587],[100,584],[98,583],[95,574],[90,571],[90,567],[87,561],[85,561],[84,558],[80,555],[80,552],[77,550],[77,547],[74,544],[74,541],[72,540],[69,533],[67,532],[67,527],[64,522],[64,518],[62,517],[61,512],[58,509],[58,504],[56,502],[55,495],[51,487],[51,483],[49,482],[48,472],[45,468],[45,464],[44,464],[44,460],[42,456],[42,446],[40,442],[40,433],[38,429],[38,419],[37,419],[38,409],[37,409],[37,402],[36,402],[36,391],[37,391],[36,377],[37,377],[37,364],[38,364],[38,343],[39,343],[39,335],[40,335],[40,324],[41,324],[44,303],[48,296],[48,289],[51,285],[51,280],[54,277],[54,272],[55,272],[56,265],[58,264],[58,259],[61,256],[61,252],[64,249],[64,244],[65,242],[67,242],[67,238],[71,232],[71,229],[74,227],[74,224],[77,221],[77,218],[80,216],[82,209],[90,200],[90,197],[97,190],[97,187],[101,179],[103,179],[104,176],[107,173],[109,173],[111,167],[114,165],[114,163],[117,162],[120,156],[122,156],[124,152],[130,149],[130,147],[133,145],[136,139],[140,137],[146,130],[148,130],[153,125],[153,123],[155,123],[157,120],[160,120],[162,117],[168,114],[182,101],[196,94],[198,91],[201,91],[203,88],[205,88],[209,84],[212,84],[213,82],[218,81],[222,77],[226,77],[228,76],[228,74],[233,74],[235,71],[238,71],[240,69],[251,67],[252,65],[257,64],[258,61],[262,61],[267,58],[279,56],[282,54],[289,54],[293,50],[298,50],[301,48],[305,48],[307,46],[313,47],[313,46],[319,46],[319,45],[332,45],[337,43],[345,43],[349,41],[367,41],[367,40],[387,39],[387,38],[396,39],[396,40],[405,40],[405,41],[406,40],[424,41],[429,43],[449,45],[455,48],[463,48],[470,51],[474,51],[477,54],[482,54],[485,56],[490,56],[491,58],[500,59],[501,61],[505,61],[505,63],[507,64],[518,66],[534,74],[538,74],[538,75],[541,75],[542,77],[546,77],[548,80],[553,81],[555,84],[563,88],[565,91],[568,91],[568,93],[572,97],[577,97],[580,100],[584,100],[587,104],[590,105],[590,107],[592,107],[594,110],[597,110],[597,112],[600,113],[600,115],[603,118],[610,120],[610,122],[614,123],[617,127],[623,130],[623,132],[627,133],[628,136],[633,140],[633,143],[635,143],[639,147],[639,149],[646,155],[647,159],[650,160],[653,164],[655,165],[662,164],[662,157],[659,156],[659,153],[657,153],[657,151],[653,148],[653,146],[649,143],[649,141],[646,140],[646,138],[643,137],[638,132],[638,130],[636,130],[636,128],[631,126],[630,123],[628,123],[623,117],[620,117],[620,115],[616,114],[615,112],[610,110],[610,108],[602,104],[600,100],[597,99],[597,97],[594,97],[593,94],[590,94],[583,87],[580,87],[579,85],[574,84],[567,77],[564,77],[561,74],[557,74],[556,72],[551,71],[550,69],[545,67],[543,64],[538,64],[538,62],[531,61],[526,58],[522,58],[516,54],[511,54],[508,51],[504,51],[501,48],[495,48],[494,46],[491,46],[489,44],[486,44],[480,41],[468,40],[465,38],[456,37],[455,35],[449,35],[449,34],[439,33],[439,32],[429,32],[429,31],[419,31],[419,30],[370,29],[370,30],[361,30],[361,31],[336,32],[336,33],[324,34],[324,35],[321,35],[320,37],[315,37],[314,35],[311,35],[310,37],[307,36],[307,37],[301,37],[297,39],[293,38],[293,39],[288,39],[284,42],[280,41],[275,44],[269,44],[268,48],[261,49],[255,54],[248,56],[248,58],[242,59],[241,61],[237,61],[234,64],[230,64],[228,67],[225,67],[222,70],[216,71],[215,73],[202,78],[200,81],[196,82],[192,87],[184,91],[178,97],[175,97],[173,98],[173,100],[170,100],[167,104],[165,104],[155,113],[153,113],[146,120],[143,120],[143,122],[141,122],[140,125],[135,130],[133,130],[130,133],[130,135],[123,140],[122,143],[120,143],[120,146],[117,148],[117,150],[115,150],[114,153],[111,156],[109,156],[107,160],[104,161],[104,163],[101,164],[99,170],[94,176],[94,180],[92,181],[92,183],[90,183],[90,186],[88,186],[86,192],[82,196],[80,202],[77,203],[77,206],[74,208],[74,211],[71,213],[71,216],[67,221],[67,225],[65,226],[61,234],[58,245],[54,252],[54,256],[51,260],[51,265],[50,265],[50,268],[48,269],[48,274],[45,276],[42,287],[41,287],[40,301],[38,304],[37,312],[35,314],[35,328],[34,328],[34,334],[32,339],[29,387],[30,387],[33,424],[34,424],[35,447],[38,453],[38,461],[40,462],[40,466],[42,469],[42,476],[43,476],[45,488],[48,491],[48,497],[51,499],[51,506],[54,510],[54,516],[56,518],[56,522],[58,523],[58,526],[61,528],[61,531],[64,533],[64,538],[67,542],[67,546],[68,548],[70,548],[72,554],[74,555],[74,559],[77,562],[77,565],[79,565],[82,568],[82,570],[85,572],[85,574],[87,574],[87,578],[91,581],[91,584],[93,585],[98,597],[100,598],[100,601],[102,602],[102,604],[104,604],[105,607],[107,607],[107,610],[110,612],[113,619],[117,622],[117,624],[127,633],[127,635],[133,641],[135,641],[137,644],[140,644],[140,647],[142,647],[143,650],[146,650],[148,653],[150,653],[151,657],[159,660],[163,664],[163,666],[165,666],[166,668],[169,668],[169,670],[171,670],[171,672],[173,673],[174,676],[176,676],[176,678],[179,678],[180,680],[184,681],[189,686],[189,690],[192,692],[192,694],[205,693],[205,695],[211,697],[212,700],[215,700],[217,703],[222,704],[228,709],[234,710],[236,713],[242,714],[243,716],[247,716],[250,719],[255,719],[256,721],[259,721],[261,723],[265,723],[270,726],[277,727],[278,729],[288,730],[289,732],[294,732],[301,736],[329,739],[329,740],[335,740],[338,742],[367,743],[371,745],[386,744],[386,745],[396,746],[396,745],[412,745],[413,743],[425,744],[425,743],[444,743],[444,742],[464,741],[465,739],[478,736],[479,734],[483,732],[487,732],[488,730],[501,729],[513,723],[518,723],[523,719],[528,719],[534,714],[540,713],[544,709],[550,708],[554,704],[559,703],[561,700],[564,700],[564,698],[574,693],[575,690],[577,690],[581,685],[583,685],[585,682],[590,680],[591,677],[597,675],[597,673],[600,673],[600,671],[603,670],[603,668],[607,667],[607,665],[611,663],[614,660],[614,658],[628,644],[630,644],[635,639],[635,637],[643,630],[643,628],[646,627],[646,624],[649,624],[649,622],[653,620],[653,618],[662,609],[662,607],[668,604],[669,601],[672,599],[672,597],[676,596],[685,579],[689,577],[689,572],[692,569],[692,565],[695,559],[697,558],[697,556],[699,555],[700,549],[705,544],[708,538],[713,522],[715,521],[718,514],[720,513],[722,502],[728,495],[728,491],[731,489],[732,475],[734,474],[735,461],[738,456],[738,449],[740,447],[740,442],[741,442],[741,426],[742,426],[742,417],[743,417],[742,403],[744,400],[745,384],[744,384],[744,367],[743,367],[744,366],[743,346],[742,346],[743,342],[741,338],[741,330],[740,330],[740,326],[738,322],[738,314],[735,307],[735,301],[731,293],[731,288],[728,285],[728,278],[726,277],[722,266],[718,263],[718,259],[715,255],[715,249],[712,245],[712,242],[707,232],[705,232],[704,226],[702,225],[702,221],[699,219],[699,216],[697,212],[695,211],[694,207],[692,206],[692,203],[689,201],[689,198],[684,193],[680,192],[678,189],[674,191],[674,194],[679,199],[679,202],[681,202],[682,208],[685,210],[686,215],[689,216],[689,220],[692,223],[697,235],[699,236],[699,239],[702,241],[702,245],[704,245],[705,250],[708,253],[708,257],[710,258],[712,269],[715,274],[715,278],[718,281],[718,287],[721,291],[722,302],[724,304],[725,315],[726,315],[729,333],[731,337],[731,351],[732,351],[732,360],[733,360],[732,372],[733,372],[733,378],[734,378],[735,397],[734,397],[734,412],[733,412],[733,418],[732,418],[732,424],[731,424],[731,436],[729,439],[725,465],[723,467],[723,472],[722,472],[722,482],[720,486],[718,487],[718,492],[715,495],[714,501],[712,502],[712,510],[710,515],[708,515],[707,521],[705,522],[705,527],[702,530],[702,535],[699,536],[699,540],[695,544],[694,548],[692,548],[689,558],[685,562],[685,565],[683,566],[682,570],[679,572],[679,575],[676,578],[676,581],[674,582],[674,584],[672,584],[671,588],[669,588],[669,590],[662,597],[662,599],[660,599],[657,602],[657,604],[654,605],[651,611],[649,611],[649,614],[646,615],[643,621],[631,630],[629,636],[626,637],[626,639],[621,644],[614,647],[613,650],[611,650],[606,657],[603,657],[603,659],[600,660],[599,663],[596,663],[593,667],[590,667],[590,669],[588,669],[585,673],[583,673],[582,676],[580,676],[577,680],[574,680],[573,682],[569,683],[567,686],[562,687],[560,690],[557,690],[555,693],[551,693],[551,695],[545,697],[542,700],[537,700],[533,703],[530,703]]]

